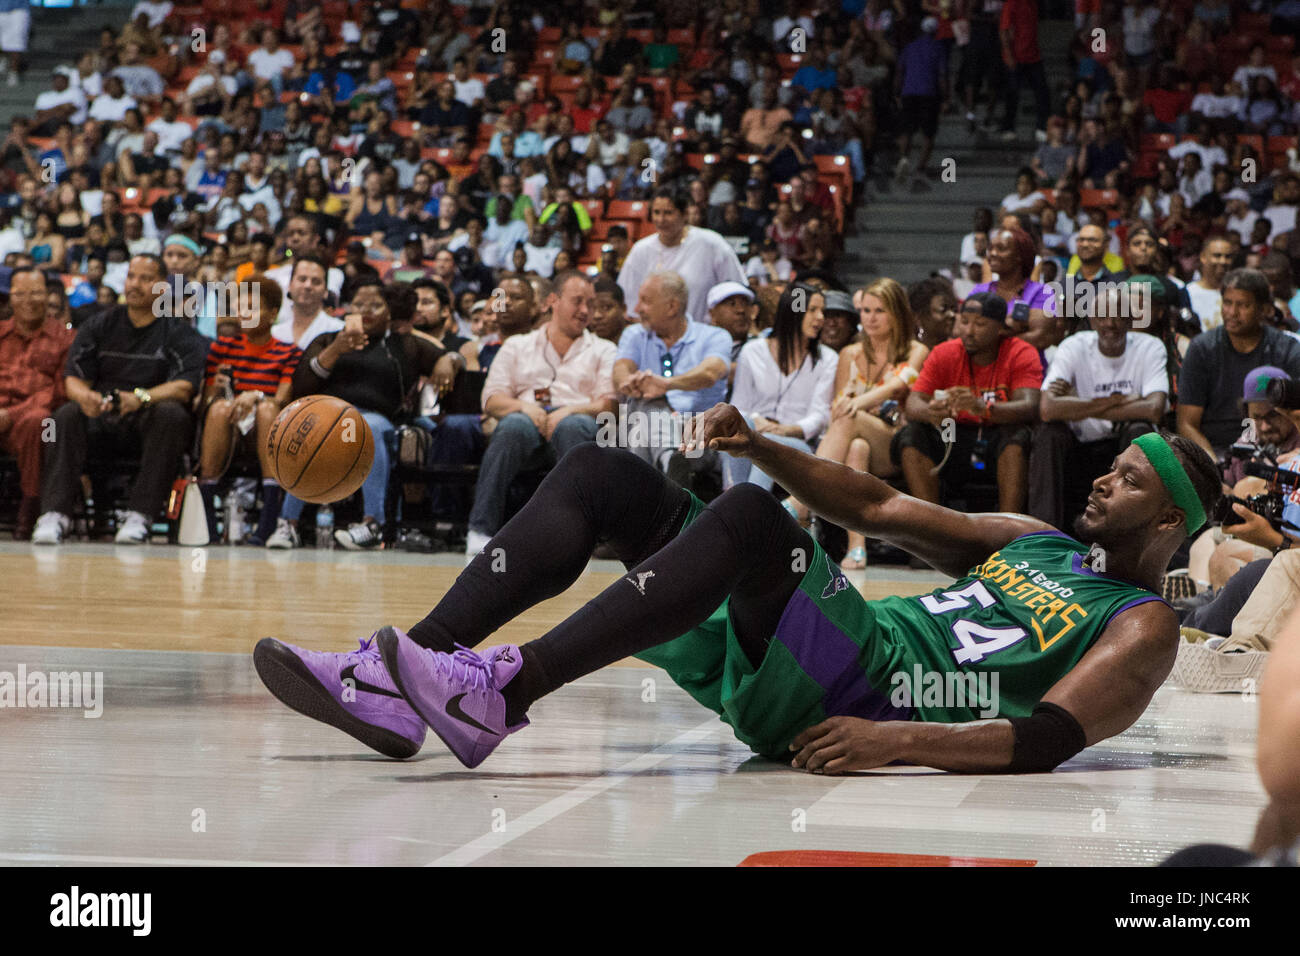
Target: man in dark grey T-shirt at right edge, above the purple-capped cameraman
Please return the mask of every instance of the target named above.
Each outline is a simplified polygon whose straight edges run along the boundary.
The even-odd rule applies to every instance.
[[[1212,455],[1242,434],[1245,376],[1274,365],[1300,377],[1300,342],[1265,324],[1273,308],[1269,280],[1257,269],[1223,277],[1223,324],[1192,339],[1178,378],[1178,433]]]

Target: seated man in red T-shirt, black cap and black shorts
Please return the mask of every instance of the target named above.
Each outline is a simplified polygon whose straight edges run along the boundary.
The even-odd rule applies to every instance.
[[[996,481],[998,510],[1023,512],[1043,362],[1011,334],[997,293],[966,299],[953,333],[926,358],[890,457],[914,498],[937,505],[945,489]]]

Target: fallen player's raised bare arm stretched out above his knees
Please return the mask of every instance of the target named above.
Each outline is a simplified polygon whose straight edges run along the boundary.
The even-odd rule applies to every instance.
[[[967,515],[902,494],[878,477],[757,434],[729,405],[690,423],[688,450],[705,446],[751,459],[810,511],[884,538],[954,578],[1008,541],[1050,528],[1024,515]]]

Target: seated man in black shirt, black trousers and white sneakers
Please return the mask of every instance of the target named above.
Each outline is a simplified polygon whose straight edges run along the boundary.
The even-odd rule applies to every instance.
[[[92,445],[98,453],[143,449],[116,541],[148,540],[194,434],[190,399],[208,354],[208,341],[183,319],[159,317],[155,286],[164,277],[161,259],[135,256],[126,272],[126,304],[77,332],[68,355],[69,401],[55,412],[55,441],[46,451],[35,544],[58,544],[68,533]]]

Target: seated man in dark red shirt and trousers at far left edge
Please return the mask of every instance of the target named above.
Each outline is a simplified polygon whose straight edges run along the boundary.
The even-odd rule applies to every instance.
[[[43,272],[16,269],[9,280],[13,319],[0,323],[0,451],[18,459],[17,541],[31,537],[40,512],[42,437],[52,436],[53,410],[66,399],[64,365],[73,333],[46,316],[48,298]]]

